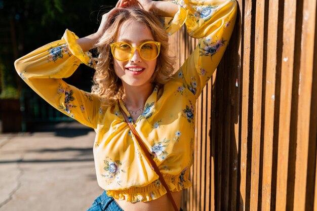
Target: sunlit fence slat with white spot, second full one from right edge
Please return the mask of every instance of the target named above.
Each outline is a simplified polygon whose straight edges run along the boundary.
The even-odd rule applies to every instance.
[[[293,62],[295,47],[296,1],[285,0],[281,71],[281,104],[279,122],[278,172],[276,178],[276,210],[286,210],[290,122],[292,107]]]

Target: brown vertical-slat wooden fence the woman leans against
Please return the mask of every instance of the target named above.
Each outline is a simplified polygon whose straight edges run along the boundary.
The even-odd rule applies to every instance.
[[[229,46],[196,102],[182,207],[317,210],[316,1],[237,2]],[[177,68],[197,40],[183,28],[171,45]]]

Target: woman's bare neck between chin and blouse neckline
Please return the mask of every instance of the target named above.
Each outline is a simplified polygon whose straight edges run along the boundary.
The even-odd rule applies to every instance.
[[[154,85],[148,83],[142,86],[130,86],[124,83],[124,102],[130,110],[138,110],[144,106],[148,97],[152,94]]]

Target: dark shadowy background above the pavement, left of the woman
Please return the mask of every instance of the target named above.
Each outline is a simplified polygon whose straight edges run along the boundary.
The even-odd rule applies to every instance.
[[[38,125],[73,121],[39,98],[18,76],[17,58],[62,37],[66,28],[82,37],[98,29],[103,13],[116,1],[0,0],[1,130],[26,132]],[[71,85],[90,91],[94,70],[81,65]],[[83,80],[85,78],[85,80]]]

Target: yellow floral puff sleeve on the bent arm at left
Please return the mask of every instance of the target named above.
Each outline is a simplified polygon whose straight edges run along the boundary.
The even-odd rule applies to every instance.
[[[61,40],[54,41],[15,61],[20,77],[53,107],[77,121],[97,127],[101,105],[99,96],[68,85],[69,77],[84,63],[93,67],[92,55],[76,43],[78,37],[66,30]]]

